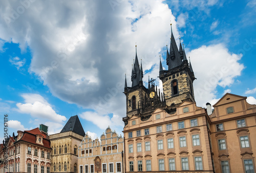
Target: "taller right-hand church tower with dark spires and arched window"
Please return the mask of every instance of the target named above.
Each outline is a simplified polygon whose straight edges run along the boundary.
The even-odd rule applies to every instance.
[[[196,79],[190,60],[187,61],[181,42],[178,50],[171,25],[170,49],[166,52],[168,70],[163,70],[160,60],[159,78],[167,106],[177,105],[185,100],[195,102],[193,81]]]

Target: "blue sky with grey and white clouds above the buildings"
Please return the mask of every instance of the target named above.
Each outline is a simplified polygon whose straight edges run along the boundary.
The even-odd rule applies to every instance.
[[[108,126],[122,135],[135,45],[145,86],[150,76],[162,90],[170,23],[197,78],[197,106],[225,93],[256,104],[255,17],[255,0],[1,1],[0,124],[7,114],[11,136],[41,123],[54,134],[78,115],[92,139]]]

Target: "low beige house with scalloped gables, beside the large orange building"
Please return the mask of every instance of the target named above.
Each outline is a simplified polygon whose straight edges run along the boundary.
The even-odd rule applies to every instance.
[[[108,127],[100,139],[86,134],[78,147],[79,173],[124,172],[123,138]]]

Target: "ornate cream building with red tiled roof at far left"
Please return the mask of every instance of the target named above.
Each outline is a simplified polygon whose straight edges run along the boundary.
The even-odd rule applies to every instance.
[[[18,131],[13,133],[7,142],[8,167],[4,169],[1,164],[1,172],[46,172],[50,173],[51,147],[47,134],[48,127],[40,125],[30,131]],[[4,156],[4,145],[1,145],[1,158]],[[3,158],[2,158],[3,159]]]

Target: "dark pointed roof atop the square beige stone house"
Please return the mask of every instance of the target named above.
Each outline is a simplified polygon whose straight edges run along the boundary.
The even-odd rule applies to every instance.
[[[77,115],[70,117],[70,119],[62,128],[60,133],[69,132],[69,131],[72,131],[81,136],[86,135],[86,133],[84,133],[83,131],[82,124]]]

